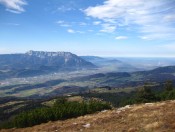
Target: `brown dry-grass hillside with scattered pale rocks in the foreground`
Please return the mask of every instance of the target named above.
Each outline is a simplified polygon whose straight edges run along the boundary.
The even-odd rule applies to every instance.
[[[96,114],[81,116],[65,121],[48,122],[30,128],[1,130],[1,132],[172,132],[175,130],[174,108],[175,100],[146,103],[125,106],[119,109],[105,110]]]

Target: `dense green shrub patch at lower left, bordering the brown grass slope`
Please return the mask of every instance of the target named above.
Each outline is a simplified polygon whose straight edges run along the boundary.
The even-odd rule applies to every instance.
[[[30,127],[48,121],[65,120],[96,111],[111,109],[109,103],[91,99],[83,102],[69,102],[65,98],[57,99],[52,107],[41,107],[27,112],[22,112],[1,128]]]

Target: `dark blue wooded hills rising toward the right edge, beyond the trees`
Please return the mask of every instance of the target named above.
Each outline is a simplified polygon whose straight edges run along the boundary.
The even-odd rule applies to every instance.
[[[175,66],[159,67],[149,71],[98,73],[72,79],[76,83],[89,82],[84,83],[89,87],[115,88],[137,87],[144,83],[163,84],[167,80],[172,80],[175,84]]]

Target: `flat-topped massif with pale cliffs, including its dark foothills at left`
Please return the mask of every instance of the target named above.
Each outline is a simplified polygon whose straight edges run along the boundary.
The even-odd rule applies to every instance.
[[[0,78],[33,76],[53,71],[91,69],[96,66],[70,52],[29,51],[0,55]]]

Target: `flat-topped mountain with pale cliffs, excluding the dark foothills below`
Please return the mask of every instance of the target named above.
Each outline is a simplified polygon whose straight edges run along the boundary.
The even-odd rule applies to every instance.
[[[59,68],[94,68],[90,62],[78,57],[70,52],[44,52],[29,51],[25,54],[4,54],[0,55],[0,69],[24,69],[40,68],[42,66],[51,66]]]

